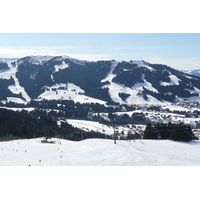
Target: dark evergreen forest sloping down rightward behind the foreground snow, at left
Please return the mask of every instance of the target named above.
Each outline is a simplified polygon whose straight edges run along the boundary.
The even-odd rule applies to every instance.
[[[105,134],[95,131],[85,132],[72,127],[67,122],[61,122],[58,126],[56,120],[50,116],[36,117],[19,111],[0,109],[1,141],[37,137],[57,137],[79,141],[87,138],[105,138]]]

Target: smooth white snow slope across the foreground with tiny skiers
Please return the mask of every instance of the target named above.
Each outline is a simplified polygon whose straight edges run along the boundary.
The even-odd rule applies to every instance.
[[[1,166],[199,166],[200,141],[52,138],[0,142]],[[61,142],[61,144],[60,144]]]

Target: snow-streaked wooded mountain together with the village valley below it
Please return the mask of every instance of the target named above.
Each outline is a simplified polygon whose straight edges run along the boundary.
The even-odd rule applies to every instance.
[[[2,58],[0,83],[1,108],[53,117],[86,132],[141,139],[147,123],[183,123],[200,134],[200,77],[166,65]]]

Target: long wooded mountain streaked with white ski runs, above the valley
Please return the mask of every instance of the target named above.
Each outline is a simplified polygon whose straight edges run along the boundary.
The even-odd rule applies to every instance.
[[[0,59],[0,101],[99,104],[200,101],[200,78],[145,61],[88,62],[68,56]]]

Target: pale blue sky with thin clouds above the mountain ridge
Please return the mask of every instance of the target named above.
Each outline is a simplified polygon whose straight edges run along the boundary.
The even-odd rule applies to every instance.
[[[1,33],[0,57],[69,55],[200,68],[199,33]]]

